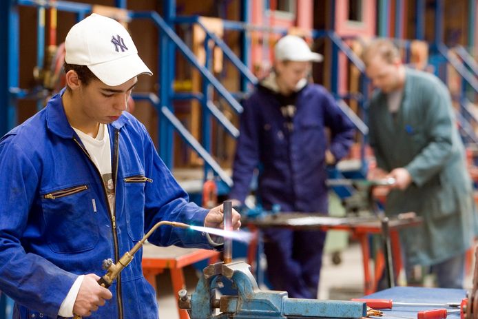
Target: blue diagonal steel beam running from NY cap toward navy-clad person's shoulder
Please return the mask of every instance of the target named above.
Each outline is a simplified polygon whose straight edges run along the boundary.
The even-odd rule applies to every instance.
[[[178,34],[172,30],[172,28],[165,23],[163,18],[157,12],[132,12],[132,17],[137,19],[152,19],[156,26],[163,31],[163,33],[167,34],[167,37],[171,39],[174,44],[179,48],[180,52],[185,56],[185,58],[194,65],[196,69],[202,74],[202,76],[207,79],[213,85],[213,87],[218,91],[220,96],[222,96],[229,105],[231,105],[232,109],[237,113],[242,113],[242,105],[233,96],[224,88],[224,86],[207,70],[203,65],[198,63],[196,56],[194,53],[187,47],[187,45],[178,37]]]

